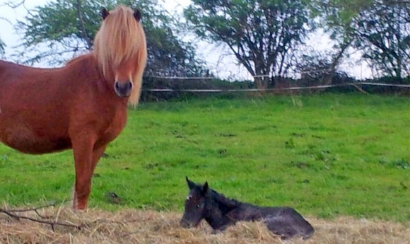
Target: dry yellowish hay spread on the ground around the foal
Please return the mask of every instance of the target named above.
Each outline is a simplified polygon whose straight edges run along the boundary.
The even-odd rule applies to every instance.
[[[6,209],[5,207],[3,209]],[[281,241],[267,231],[263,223],[240,222],[223,233],[211,233],[202,222],[199,228],[185,229],[179,226],[182,213],[151,210],[124,209],[116,213],[90,209],[88,212],[72,211],[69,207],[48,207],[35,211],[14,212],[21,216],[55,221],[73,226],[38,223],[27,219],[12,218],[0,212],[0,243],[363,243],[410,244],[410,222],[392,223],[341,217],[323,220],[307,217],[316,232],[309,240]]]

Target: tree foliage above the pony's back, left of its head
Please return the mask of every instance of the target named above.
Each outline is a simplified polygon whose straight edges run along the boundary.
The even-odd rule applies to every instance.
[[[21,55],[28,58],[25,63],[61,64],[70,55],[91,50],[93,36],[100,26],[100,8],[97,1],[78,6],[75,0],[58,0],[30,11],[25,21],[18,21],[25,47]]]

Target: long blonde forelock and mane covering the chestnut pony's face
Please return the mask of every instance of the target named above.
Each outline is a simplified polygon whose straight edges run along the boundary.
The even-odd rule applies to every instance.
[[[142,75],[146,66],[146,39],[141,23],[134,18],[134,11],[117,6],[102,21],[94,39],[95,58],[105,79],[113,79],[114,67],[126,60],[135,60],[132,71],[133,90],[129,97],[131,105],[137,105],[141,93]]]

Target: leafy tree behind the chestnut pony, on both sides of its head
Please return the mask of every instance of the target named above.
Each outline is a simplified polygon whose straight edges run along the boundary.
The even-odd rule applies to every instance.
[[[115,0],[57,0],[37,6],[24,21],[18,22],[23,32],[25,63],[47,62],[61,64],[78,53],[93,49],[93,38],[101,24],[102,7],[117,4],[133,6],[134,1]],[[156,0],[138,1],[146,31],[148,75],[199,76],[206,72],[204,62],[196,57],[194,47],[175,35],[174,18]]]

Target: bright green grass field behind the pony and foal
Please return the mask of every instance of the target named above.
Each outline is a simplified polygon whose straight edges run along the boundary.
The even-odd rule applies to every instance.
[[[89,207],[182,211],[187,175],[228,197],[319,218],[410,220],[410,99],[325,94],[142,103],[107,148]],[[0,145],[0,200],[71,197],[71,151]],[[119,205],[107,202],[115,192]]]

